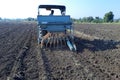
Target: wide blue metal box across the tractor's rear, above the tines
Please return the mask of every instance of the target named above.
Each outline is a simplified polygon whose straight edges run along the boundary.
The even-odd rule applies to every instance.
[[[38,16],[38,24],[41,25],[42,30],[49,32],[65,32],[66,29],[71,28],[70,16]],[[68,27],[69,26],[69,27]]]

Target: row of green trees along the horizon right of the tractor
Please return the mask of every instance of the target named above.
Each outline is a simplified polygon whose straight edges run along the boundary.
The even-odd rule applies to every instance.
[[[114,19],[114,14],[112,11],[105,13],[103,18],[100,18],[99,16],[93,18],[92,16],[89,17],[83,17],[83,18],[79,18],[79,19],[74,19],[72,18],[73,22],[76,23],[82,23],[82,22],[88,22],[88,23],[112,23],[112,22],[120,22],[120,18],[119,19]]]

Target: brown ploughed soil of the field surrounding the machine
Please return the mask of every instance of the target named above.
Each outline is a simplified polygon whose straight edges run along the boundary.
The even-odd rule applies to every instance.
[[[0,80],[120,80],[120,25],[74,26],[77,53],[40,50],[36,23],[0,22]]]

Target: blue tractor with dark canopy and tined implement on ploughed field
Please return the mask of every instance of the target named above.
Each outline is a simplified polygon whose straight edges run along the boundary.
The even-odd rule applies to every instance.
[[[51,11],[50,15],[41,15],[41,9]],[[54,15],[58,9],[60,15]],[[65,15],[63,5],[39,5],[38,7],[38,44],[41,48],[57,48],[66,44],[70,50],[76,51],[73,26],[69,15]]]

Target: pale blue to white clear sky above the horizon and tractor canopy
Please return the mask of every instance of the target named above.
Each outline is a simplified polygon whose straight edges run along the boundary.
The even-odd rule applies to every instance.
[[[103,18],[109,11],[113,12],[114,18],[120,18],[120,0],[0,0],[0,17],[36,18],[41,4],[65,5],[66,14],[77,19],[88,16]]]

